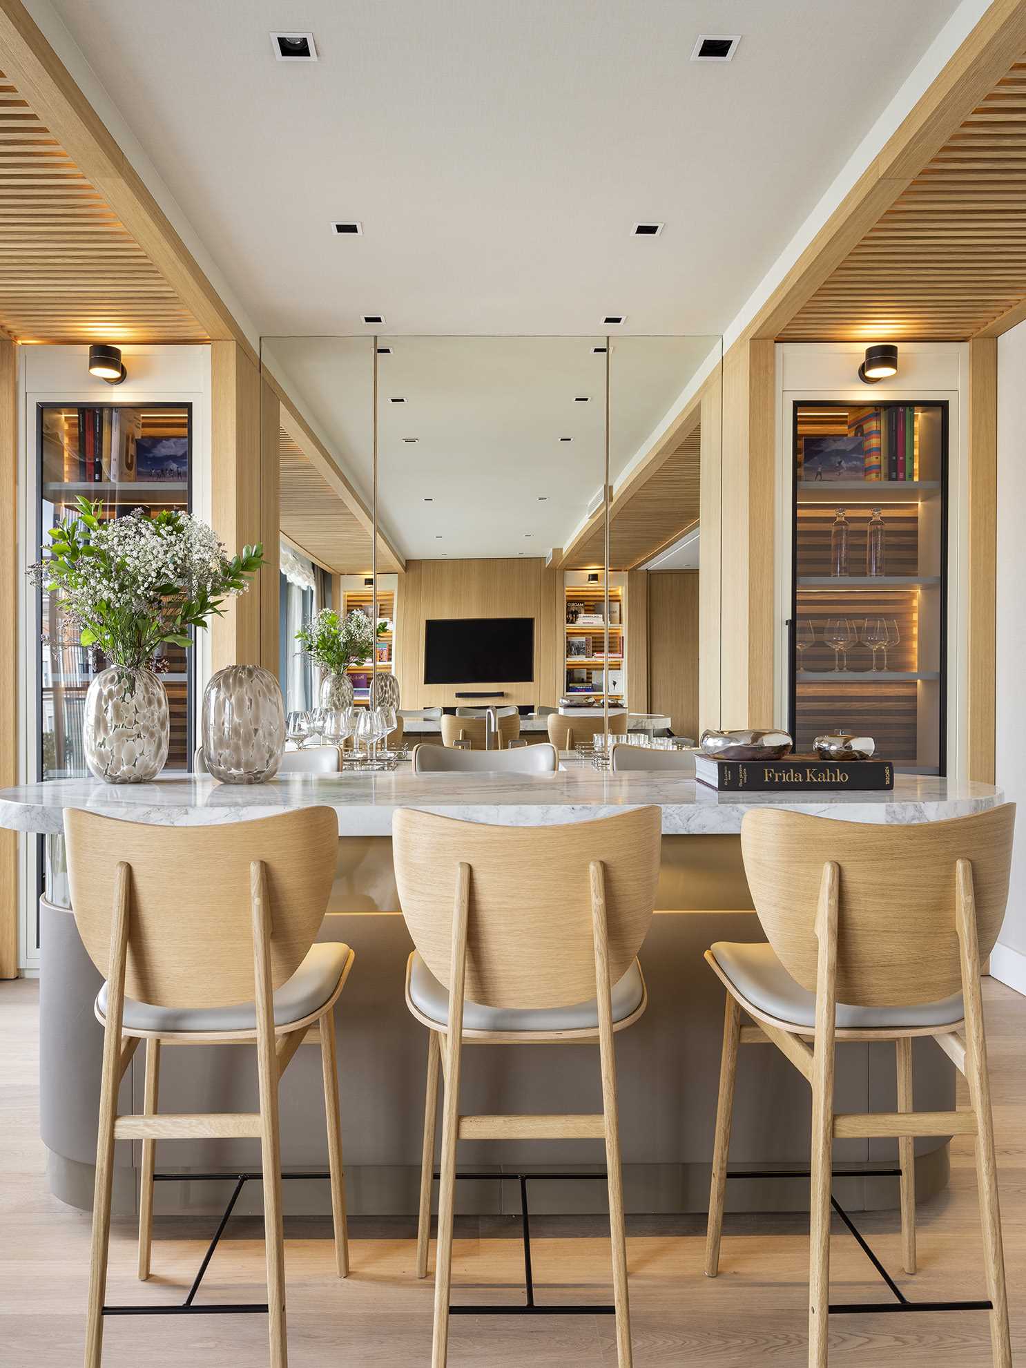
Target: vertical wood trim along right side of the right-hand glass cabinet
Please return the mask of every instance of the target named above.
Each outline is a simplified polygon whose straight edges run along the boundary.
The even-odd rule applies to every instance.
[[[997,338],[969,343],[969,778],[995,781]]]

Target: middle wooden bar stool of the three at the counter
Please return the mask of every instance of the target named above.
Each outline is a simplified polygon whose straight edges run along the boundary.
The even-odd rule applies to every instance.
[[[406,1005],[430,1031],[421,1278],[431,1233],[439,1063],[445,1078],[434,1368],[445,1368],[449,1342],[458,1140],[605,1140],[617,1363],[628,1368],[632,1361],[613,1036],[646,1008],[636,956],[653,918],[659,829],[657,807],[550,828],[486,826],[410,810],[394,817],[395,881],[416,945],[406,969]],[[449,1029],[450,1014],[462,1031]],[[460,1115],[464,1041],[575,1040],[598,1042],[601,1114]]]

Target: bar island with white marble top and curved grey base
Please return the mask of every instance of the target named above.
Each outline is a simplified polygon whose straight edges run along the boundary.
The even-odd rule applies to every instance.
[[[404,1003],[410,940],[398,911],[391,867],[391,815],[419,807],[469,821],[551,825],[587,821],[646,803],[662,808],[662,871],[658,910],[642,949],[648,1010],[617,1040],[621,1140],[627,1208],[635,1212],[705,1211],[713,1149],[724,992],[702,955],[717,940],[763,940],[744,878],[737,833],[755,806],[785,806],[859,822],[915,824],[963,817],[1001,800],[986,785],[899,776],[892,793],[726,798],[694,780],[603,774],[338,777],[287,776],[256,788],[219,785],[204,776],[161,777],[153,784],[109,787],[60,780],[0,792],[0,826],[42,833],[47,897],[41,903],[41,1130],[49,1182],[64,1201],[92,1202],[101,1030],[93,1015],[100,979],[78,938],[63,873],[63,811],[85,807],[155,825],[246,821],[291,807],[328,804],[339,821],[335,885],[320,932],[356,949],[356,964],[337,1008],[339,1081],[349,1209],[395,1215],[417,1209],[417,1181],[427,1063],[425,1031]],[[216,897],[216,888],[211,897]],[[895,910],[900,915],[900,908]],[[142,1063],[126,1074],[120,1107],[142,1107]],[[932,1040],[914,1042],[917,1109],[947,1111],[955,1103],[953,1067]],[[839,1111],[895,1109],[895,1052],[886,1045],[839,1045]],[[465,1052],[461,1111],[595,1111],[598,1051],[579,1045]],[[244,1047],[167,1048],[161,1062],[163,1111],[252,1111],[256,1062]],[[323,1170],[324,1127],[320,1059],[300,1049],[282,1082],[282,1149],[287,1171]],[[774,1049],[741,1053],[735,1105],[732,1167],[785,1172],[808,1156],[810,1094]],[[116,1209],[134,1212],[138,1146],[118,1145]],[[159,1146],[164,1171],[237,1174],[257,1166],[256,1142],[174,1141]],[[865,1176],[839,1179],[836,1193],[852,1211],[897,1205],[897,1183],[873,1176],[895,1167],[896,1142],[845,1140],[834,1164]],[[602,1170],[598,1142],[535,1141],[461,1144],[461,1167],[490,1172],[566,1167]],[[917,1141],[921,1198],[947,1183],[944,1138]],[[293,1181],[287,1209],[330,1212],[327,1183]],[[252,1189],[252,1190],[250,1190]],[[220,1211],[223,1182],[160,1183],[157,1209]],[[807,1205],[807,1185],[757,1179],[729,1185],[739,1211]],[[461,1182],[466,1212],[518,1211],[514,1179]],[[259,1209],[249,1185],[239,1209]],[[539,1183],[540,1211],[599,1211],[602,1183]]]

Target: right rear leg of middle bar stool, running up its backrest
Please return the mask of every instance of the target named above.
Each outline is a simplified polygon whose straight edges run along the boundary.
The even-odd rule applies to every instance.
[[[613,1244],[613,1304],[617,1321],[617,1364],[631,1368],[631,1304],[627,1289],[627,1233],[624,1228],[624,1175],[620,1167],[620,1118],[617,1112],[617,1059],[613,1036],[613,1003],[609,982],[609,940],[602,865],[591,865],[591,914],[595,943],[595,979],[602,1067],[602,1112],[606,1130],[609,1175],[609,1234]]]

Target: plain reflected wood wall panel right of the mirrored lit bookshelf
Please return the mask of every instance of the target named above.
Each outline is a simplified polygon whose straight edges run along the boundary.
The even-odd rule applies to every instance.
[[[699,732],[698,570],[648,575],[648,696],[677,736]]]

